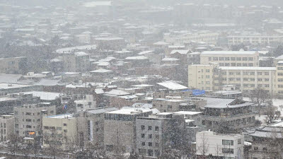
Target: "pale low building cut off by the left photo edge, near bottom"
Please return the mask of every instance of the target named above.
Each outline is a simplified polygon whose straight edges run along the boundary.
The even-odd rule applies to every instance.
[[[14,134],[15,119],[13,115],[1,115],[0,116],[0,133],[1,142],[10,139],[10,135]]]

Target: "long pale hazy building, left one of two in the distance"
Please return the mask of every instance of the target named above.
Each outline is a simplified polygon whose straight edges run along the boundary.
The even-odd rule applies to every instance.
[[[206,42],[216,44],[218,33],[164,33],[163,40],[171,44],[188,44],[192,42]]]

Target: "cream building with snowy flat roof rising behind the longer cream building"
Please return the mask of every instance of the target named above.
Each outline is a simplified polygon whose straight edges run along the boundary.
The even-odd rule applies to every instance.
[[[200,64],[218,63],[219,66],[259,66],[255,51],[207,51],[200,54]]]

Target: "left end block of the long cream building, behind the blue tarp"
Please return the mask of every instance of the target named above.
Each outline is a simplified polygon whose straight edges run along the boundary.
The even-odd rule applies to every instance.
[[[189,88],[214,90],[214,65],[190,65],[188,71]]]

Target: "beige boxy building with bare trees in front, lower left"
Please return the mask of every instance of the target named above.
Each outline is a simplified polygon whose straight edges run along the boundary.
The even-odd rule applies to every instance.
[[[55,144],[59,149],[71,150],[78,144],[77,120],[73,114],[57,114],[42,118],[43,146]],[[80,136],[79,136],[80,137]]]

